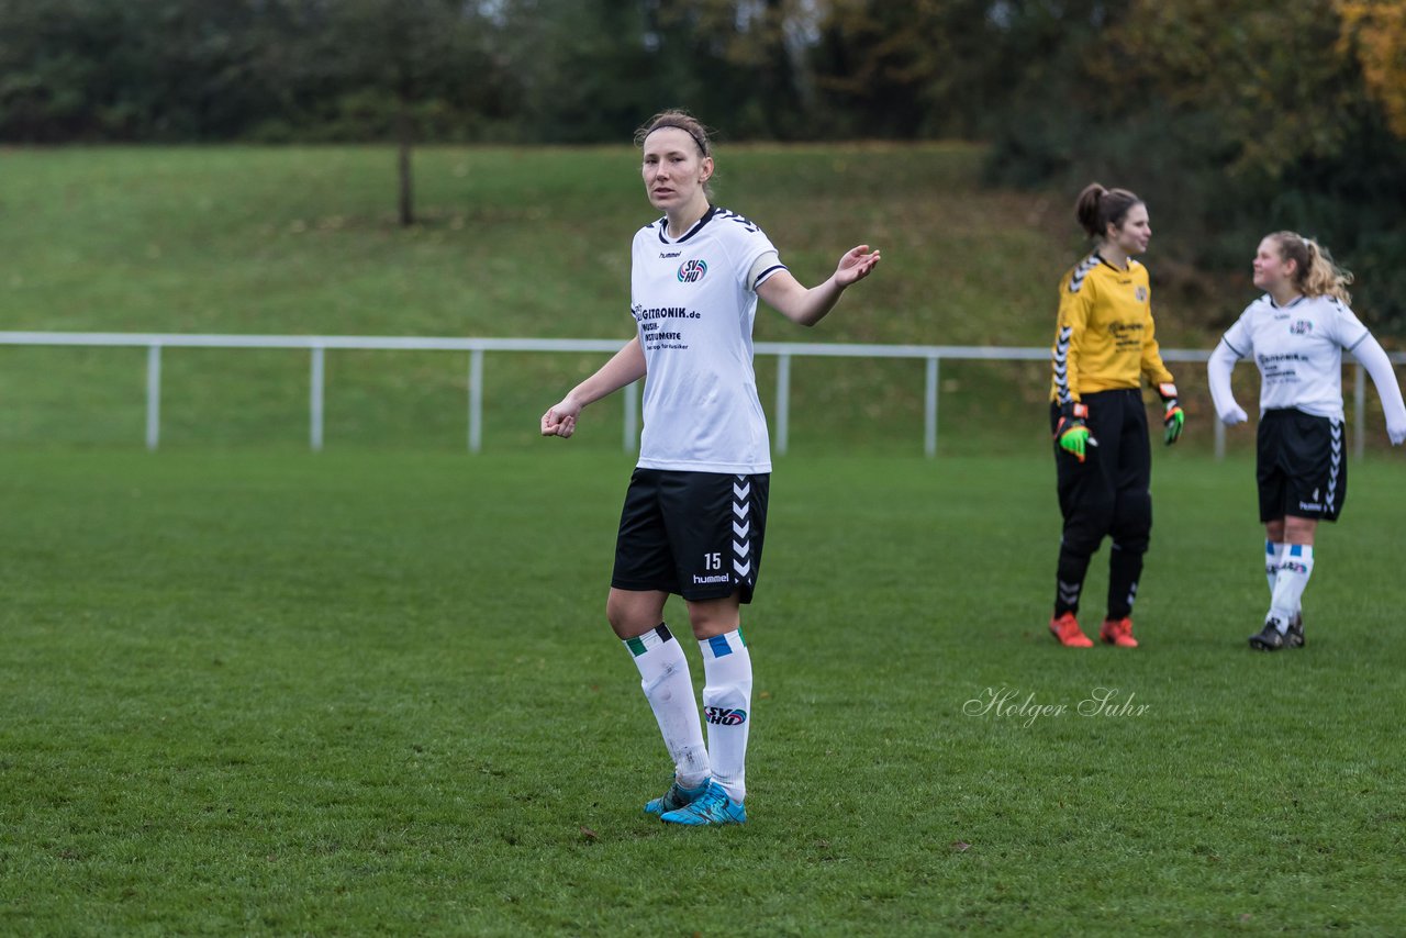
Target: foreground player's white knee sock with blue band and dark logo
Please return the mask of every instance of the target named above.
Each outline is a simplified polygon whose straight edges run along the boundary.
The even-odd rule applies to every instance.
[[[747,734],[752,728],[752,655],[742,630],[699,640],[703,648],[703,714],[713,778],[728,797],[747,796]]]

